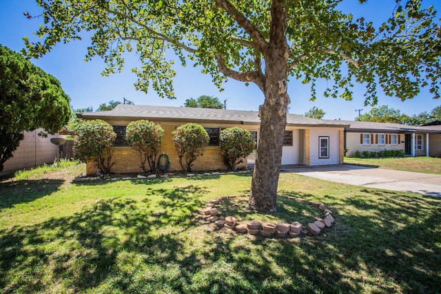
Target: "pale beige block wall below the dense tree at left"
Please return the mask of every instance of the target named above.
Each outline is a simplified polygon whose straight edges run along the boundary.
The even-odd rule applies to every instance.
[[[42,138],[38,135],[41,131],[43,129],[24,133],[25,138],[14,151],[13,157],[6,160],[1,174],[54,162],[57,158],[57,146],[50,143],[50,139],[58,135],[48,134],[47,138]]]

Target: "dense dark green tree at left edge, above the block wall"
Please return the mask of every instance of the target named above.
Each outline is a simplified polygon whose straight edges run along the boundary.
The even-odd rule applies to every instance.
[[[69,118],[69,97],[57,78],[0,45],[0,171],[23,132],[42,127],[54,134]]]

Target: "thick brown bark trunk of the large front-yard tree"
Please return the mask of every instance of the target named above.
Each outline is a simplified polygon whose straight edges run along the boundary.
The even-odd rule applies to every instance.
[[[283,135],[287,124],[287,62],[289,48],[285,38],[286,11],[281,1],[271,6],[271,30],[265,52],[265,103],[260,105],[260,136],[249,197],[249,207],[276,211],[276,196]]]

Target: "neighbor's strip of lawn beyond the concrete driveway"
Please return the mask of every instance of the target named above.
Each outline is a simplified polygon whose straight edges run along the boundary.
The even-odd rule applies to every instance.
[[[425,174],[441,174],[441,158],[404,157],[404,158],[353,158],[345,157],[349,165],[369,165],[382,169],[415,171]]]

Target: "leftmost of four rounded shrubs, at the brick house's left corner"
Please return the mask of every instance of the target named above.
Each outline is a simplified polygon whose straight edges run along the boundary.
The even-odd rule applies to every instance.
[[[86,120],[76,130],[74,151],[82,162],[94,160],[101,174],[109,174],[112,165],[113,143],[116,134],[104,120]]]

